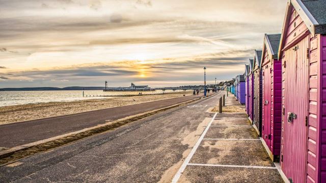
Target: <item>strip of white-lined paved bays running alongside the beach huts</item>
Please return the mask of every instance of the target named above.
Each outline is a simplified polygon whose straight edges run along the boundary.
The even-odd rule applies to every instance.
[[[173,182],[283,182],[244,112],[227,97],[175,175]]]

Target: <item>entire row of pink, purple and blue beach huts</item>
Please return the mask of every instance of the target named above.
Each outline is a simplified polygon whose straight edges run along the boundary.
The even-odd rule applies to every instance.
[[[289,0],[253,54],[228,90],[289,182],[326,182],[326,0]]]

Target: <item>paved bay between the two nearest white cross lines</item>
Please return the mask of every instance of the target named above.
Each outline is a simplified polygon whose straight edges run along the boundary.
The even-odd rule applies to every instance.
[[[190,163],[275,167],[259,140],[203,140]]]

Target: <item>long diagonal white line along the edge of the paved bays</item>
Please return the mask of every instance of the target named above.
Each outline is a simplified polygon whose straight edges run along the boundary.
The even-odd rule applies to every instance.
[[[212,124],[212,122],[214,121],[216,115],[218,113],[215,113],[214,116],[212,117],[212,119],[210,120],[210,122],[208,123],[208,125],[206,126],[204,132],[202,133],[202,135],[200,136],[200,138],[198,139],[197,143],[195,144],[195,146],[193,147],[193,149],[190,151],[190,153],[188,154],[187,158],[184,160],[183,164],[181,165],[180,169],[178,170],[178,172],[174,175],[173,179],[172,179],[172,183],[176,183],[181,174],[183,173],[185,167],[188,165],[188,163],[190,162],[190,160],[192,159],[193,155],[195,154],[198,146],[200,145],[201,141],[204,139],[204,136],[206,135],[208,128],[210,127],[210,125]]]

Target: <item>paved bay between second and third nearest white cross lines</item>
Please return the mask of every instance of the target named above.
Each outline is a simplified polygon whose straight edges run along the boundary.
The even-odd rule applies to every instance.
[[[211,126],[205,139],[258,139],[256,130],[250,127],[216,127]]]

